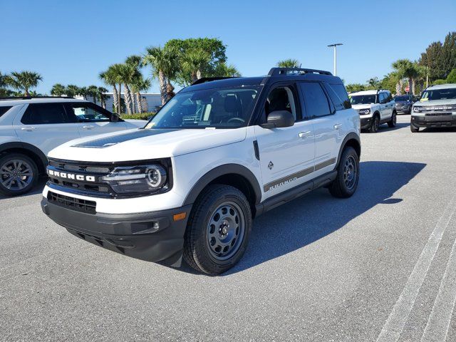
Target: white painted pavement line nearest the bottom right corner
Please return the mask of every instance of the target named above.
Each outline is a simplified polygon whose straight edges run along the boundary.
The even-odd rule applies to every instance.
[[[439,293],[427,320],[426,328],[421,336],[422,342],[445,341],[452,311],[456,301],[456,240],[448,258],[447,268],[440,283]]]

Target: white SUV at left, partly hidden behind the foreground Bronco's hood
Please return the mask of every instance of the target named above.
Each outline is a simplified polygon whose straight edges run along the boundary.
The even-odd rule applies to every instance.
[[[44,173],[46,154],[76,138],[144,127],[74,98],[0,98],[0,193],[21,195]]]

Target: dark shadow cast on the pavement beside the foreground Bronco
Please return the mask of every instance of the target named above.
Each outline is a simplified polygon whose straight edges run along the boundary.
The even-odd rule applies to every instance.
[[[336,199],[320,189],[281,205],[254,220],[249,247],[229,275],[306,247],[335,232],[377,204],[395,204],[390,198],[423,170],[413,162],[361,162],[358,190],[353,197]]]

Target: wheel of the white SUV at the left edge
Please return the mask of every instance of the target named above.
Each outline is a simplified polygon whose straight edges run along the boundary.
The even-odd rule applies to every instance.
[[[24,195],[36,185],[38,167],[30,157],[7,153],[0,157],[0,193],[6,196]]]

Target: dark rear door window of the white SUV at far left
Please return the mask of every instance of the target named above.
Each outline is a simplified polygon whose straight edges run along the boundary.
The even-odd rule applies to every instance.
[[[46,125],[67,121],[62,103],[31,103],[21,119],[24,125]]]

